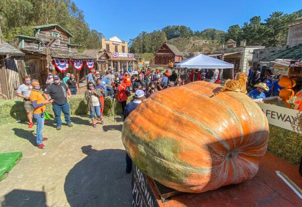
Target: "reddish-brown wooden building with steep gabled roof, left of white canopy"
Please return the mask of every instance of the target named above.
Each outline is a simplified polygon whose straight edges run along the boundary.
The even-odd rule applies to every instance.
[[[164,42],[164,44],[159,48],[154,54],[154,64],[169,66],[169,61],[173,63],[183,61],[184,57],[182,52],[180,52],[177,47],[172,44]]]

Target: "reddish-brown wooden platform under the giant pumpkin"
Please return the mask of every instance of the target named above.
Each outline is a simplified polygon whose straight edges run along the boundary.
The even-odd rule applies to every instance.
[[[302,199],[300,199],[293,190],[291,190],[284,181],[276,175],[276,170],[283,172],[298,187],[302,188],[302,177],[298,173],[298,166],[292,165],[270,153],[267,153],[261,160],[258,174],[253,180],[249,180],[241,184],[223,186],[216,190],[204,193],[195,194],[178,192],[145,176],[145,184],[149,185],[150,194],[152,194],[151,196],[146,197],[146,201],[151,203],[151,199],[153,199],[153,206],[169,207],[302,206]],[[141,192],[140,196],[144,199],[144,194],[148,195],[148,193],[146,190],[142,191],[143,192]],[[137,201],[137,198],[137,196],[133,197],[134,204]],[[147,204],[146,206],[149,205]]]

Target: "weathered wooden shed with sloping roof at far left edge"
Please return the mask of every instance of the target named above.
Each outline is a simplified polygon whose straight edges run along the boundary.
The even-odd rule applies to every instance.
[[[2,40],[0,26],[0,98],[16,98],[25,75],[24,53]]]

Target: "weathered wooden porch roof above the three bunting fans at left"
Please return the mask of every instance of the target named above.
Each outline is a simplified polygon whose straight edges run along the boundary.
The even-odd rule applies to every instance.
[[[46,56],[44,50],[31,50],[31,49],[22,49],[24,53],[30,53],[38,56]],[[66,51],[55,51],[50,52],[52,58],[64,58],[64,59],[96,59],[94,56],[85,55],[77,52],[66,52]]]

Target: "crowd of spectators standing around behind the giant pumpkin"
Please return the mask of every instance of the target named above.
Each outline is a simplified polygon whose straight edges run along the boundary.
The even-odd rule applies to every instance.
[[[172,69],[166,70],[164,73],[161,73],[160,70],[153,71],[149,67],[138,70],[129,67],[125,71],[109,67],[109,70],[105,73],[91,70],[86,76],[85,99],[87,100],[87,110],[90,112],[92,126],[97,127],[96,121],[104,124],[103,110],[104,97],[106,96],[116,98],[121,104],[125,118],[143,98],[148,98],[154,93],[170,87],[180,87],[188,82],[207,81],[219,84],[223,80],[221,72],[217,69],[194,70],[187,74],[186,77],[189,80],[186,80],[186,77],[178,75],[177,71]],[[252,99],[278,96],[282,89],[278,85],[279,79],[280,76],[273,76],[270,70],[267,70],[267,73],[263,76],[257,66],[251,67],[247,81],[248,95]],[[64,115],[67,126],[72,127],[67,99],[77,94],[79,86],[74,75],[70,73],[67,73],[62,81],[59,76],[49,74],[46,80],[47,87],[43,94],[40,93],[40,83],[37,80],[31,80],[29,76],[25,76],[23,81],[24,84],[20,85],[17,90],[17,96],[24,100],[29,128],[33,127],[33,117],[36,119],[37,145],[40,149],[45,149],[43,141],[46,141],[47,138],[42,135],[44,124],[47,124],[44,120],[45,105],[52,104],[57,130],[62,128],[61,113]],[[131,96],[131,92],[135,95],[132,102],[127,105],[127,99]],[[302,104],[300,105],[302,108]],[[95,116],[97,116],[97,120]]]

